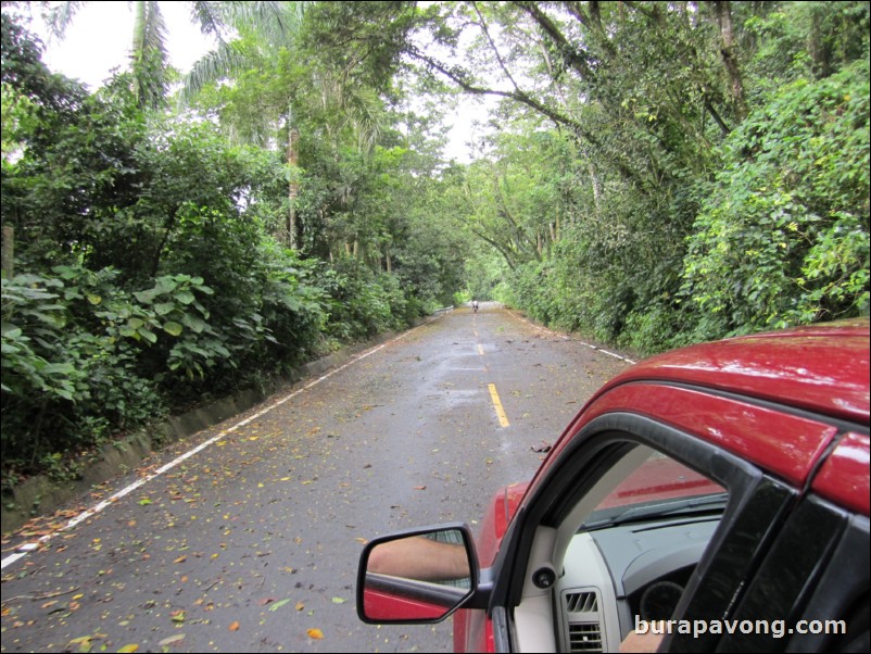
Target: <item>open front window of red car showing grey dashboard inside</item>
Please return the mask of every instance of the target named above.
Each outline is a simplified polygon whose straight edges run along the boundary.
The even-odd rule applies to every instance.
[[[554,590],[557,649],[616,650],[636,624],[671,618],[728,499],[721,485],[656,450],[616,462],[558,529],[571,537]]]

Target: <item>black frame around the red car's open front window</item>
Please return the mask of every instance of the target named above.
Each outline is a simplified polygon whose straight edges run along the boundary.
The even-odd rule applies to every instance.
[[[657,386],[660,399],[668,395],[668,388],[679,386]],[[620,390],[619,387],[617,389]],[[638,390],[638,389],[636,389]],[[685,390],[685,389],[683,389]],[[699,392],[707,397],[709,389]],[[610,391],[615,394],[615,390]],[[638,394],[638,393],[636,393]],[[813,416],[782,412],[769,402],[757,402],[730,393],[710,393],[716,395],[722,405],[724,402],[734,405],[735,411],[744,418],[754,414],[774,412],[784,423],[800,422],[801,428],[810,420],[819,428],[820,443],[825,442],[829,425],[813,420]],[[505,619],[496,624],[494,620],[494,641],[497,647],[512,651],[516,647],[513,612],[520,603],[523,582],[531,574],[527,558],[532,548],[535,530],[547,521],[558,520],[565,504],[576,489],[575,495],[601,477],[607,468],[608,461],[615,456],[615,444],[638,443],[652,447],[680,463],[710,477],[730,492],[730,501],[723,514],[721,525],[710,541],[705,555],[699,562],[696,573],[678,606],[677,615],[687,620],[714,620],[728,616],[740,601],[744,582],[753,574],[762,555],[782,527],[790,510],[795,506],[803,490],[799,485],[785,482],[766,473],[762,466],[750,463],[742,453],[730,451],[725,445],[735,449],[734,442],[725,444],[712,442],[709,433],[699,435],[694,427],[697,420],[683,419],[679,415],[685,410],[653,412],[642,414],[628,408],[630,403],[608,401],[604,408],[596,411],[595,404],[583,412],[583,417],[567,430],[560,439],[559,451],[547,466],[546,477],[533,482],[505,534],[500,553],[493,566],[493,592],[490,603],[491,617],[502,615]],[[770,415],[768,416],[771,417]],[[716,418],[715,418],[716,419]],[[725,417],[723,419],[727,419]],[[770,420],[769,420],[770,422]],[[681,423],[684,423],[683,425]],[[723,425],[707,425],[710,432],[716,432]],[[762,460],[770,454],[762,454]],[[811,467],[815,462],[809,462]],[[795,475],[800,476],[797,469]],[[687,641],[681,637],[667,637],[666,646],[676,649],[714,650],[719,636],[707,634],[703,639]],[[507,646],[505,646],[507,645]],[[503,650],[500,650],[503,651]]]

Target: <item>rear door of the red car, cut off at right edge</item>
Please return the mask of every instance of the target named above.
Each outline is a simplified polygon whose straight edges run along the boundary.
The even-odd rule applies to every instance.
[[[869,651],[869,436],[845,430],[735,611],[723,652]]]

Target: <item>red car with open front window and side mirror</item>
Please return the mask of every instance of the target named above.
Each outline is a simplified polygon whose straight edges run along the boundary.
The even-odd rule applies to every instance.
[[[695,345],[602,388],[465,525],[365,548],[367,622],[456,651],[869,651],[869,322]]]

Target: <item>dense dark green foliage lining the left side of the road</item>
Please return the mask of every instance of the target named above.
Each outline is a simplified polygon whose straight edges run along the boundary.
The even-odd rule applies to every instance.
[[[365,153],[348,113],[304,116],[323,163],[311,162],[315,192],[301,199],[302,257],[276,239],[288,183],[302,176],[280,149],[146,113],[127,75],[89,95],[51,75],[7,17],[2,217],[24,274],[3,279],[4,480],[74,475],[83,452],[115,435],[403,327],[452,292],[413,288],[414,266],[400,261],[414,259],[402,235],[417,197],[395,139]],[[334,268],[312,256],[352,242],[358,256]],[[382,269],[391,244],[402,280]]]

